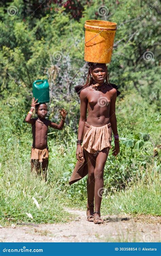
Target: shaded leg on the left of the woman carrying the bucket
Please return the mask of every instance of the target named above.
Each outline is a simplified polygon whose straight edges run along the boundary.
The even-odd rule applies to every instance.
[[[87,165],[88,165],[87,201],[88,201],[88,205],[90,206],[91,202],[94,202],[94,186],[95,186],[94,169],[96,164],[96,156],[88,153],[86,150],[85,150],[85,155],[86,155]],[[92,215],[93,213],[94,213],[94,210],[92,209],[89,209],[87,211],[87,215]]]

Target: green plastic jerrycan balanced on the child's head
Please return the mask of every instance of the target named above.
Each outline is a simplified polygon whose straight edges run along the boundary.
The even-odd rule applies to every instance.
[[[49,102],[49,84],[48,80],[36,80],[33,82],[33,96],[35,100],[38,99],[37,102],[44,103]]]

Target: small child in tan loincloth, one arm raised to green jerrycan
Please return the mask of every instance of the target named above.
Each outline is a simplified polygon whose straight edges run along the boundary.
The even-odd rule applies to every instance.
[[[34,109],[36,109],[36,118],[31,118]],[[47,180],[47,169],[49,163],[49,149],[47,144],[48,126],[62,130],[65,123],[67,111],[61,109],[61,121],[59,124],[55,124],[46,119],[48,112],[46,103],[37,103],[37,100],[33,98],[31,103],[31,110],[28,112],[25,121],[32,125],[33,145],[31,149],[31,170],[35,168],[36,173],[40,174],[41,170],[45,181]]]

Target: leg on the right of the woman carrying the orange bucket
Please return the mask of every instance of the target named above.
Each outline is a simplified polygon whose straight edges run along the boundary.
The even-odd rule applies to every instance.
[[[96,158],[96,166],[94,170],[95,178],[95,190],[94,190],[94,200],[95,200],[95,212],[99,212],[101,209],[102,193],[104,187],[104,167],[109,154],[109,147],[104,148],[99,152]],[[94,217],[99,217],[99,214],[95,213]]]

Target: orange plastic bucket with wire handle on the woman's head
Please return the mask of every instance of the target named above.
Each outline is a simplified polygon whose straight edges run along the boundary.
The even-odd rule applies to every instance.
[[[84,59],[94,63],[111,61],[117,23],[105,20],[86,20]]]

